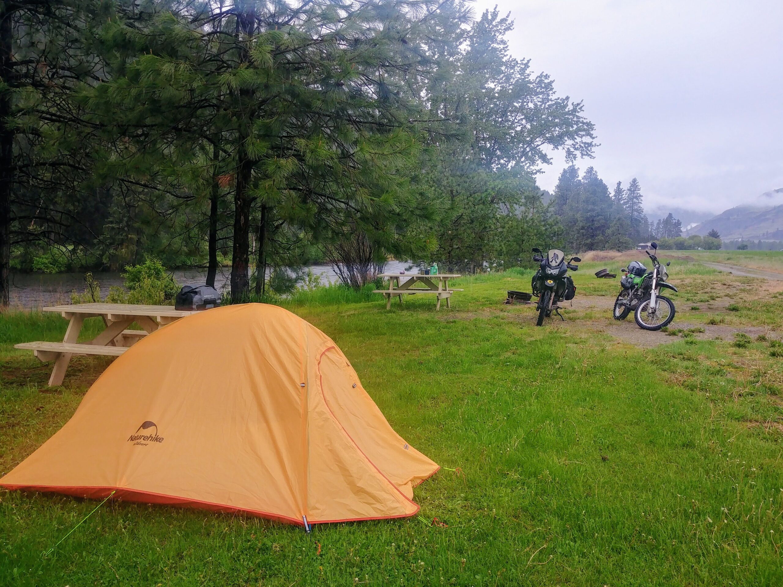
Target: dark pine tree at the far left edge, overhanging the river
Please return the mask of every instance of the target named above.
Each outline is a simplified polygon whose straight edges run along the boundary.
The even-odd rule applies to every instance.
[[[0,0],[0,307],[9,303],[12,245],[73,255],[101,224],[104,194],[84,185],[95,129],[82,127],[71,99],[78,85],[99,79],[84,35],[99,8],[91,0]]]

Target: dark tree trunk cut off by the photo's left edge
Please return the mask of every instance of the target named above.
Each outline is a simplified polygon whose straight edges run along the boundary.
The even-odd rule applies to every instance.
[[[0,1],[0,83],[11,81],[11,6]],[[0,306],[9,304],[11,265],[11,188],[13,182],[13,128],[11,93],[0,90]]]

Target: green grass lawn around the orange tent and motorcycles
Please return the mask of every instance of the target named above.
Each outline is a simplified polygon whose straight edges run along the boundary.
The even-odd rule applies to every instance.
[[[617,280],[592,275],[601,266],[576,274],[578,297],[613,299]],[[781,585],[779,292],[698,263],[670,273],[673,327],[722,318],[766,334],[659,335],[644,350],[604,331],[609,312],[578,309],[536,328],[532,306],[502,304],[529,290],[521,271],[462,279],[437,313],[431,296],[389,312],[380,296],[300,296],[290,309],[334,338],[391,425],[456,470],[416,489],[420,518],[306,535],[106,502],[45,556],[98,502],[3,491],[0,585]],[[49,366],[13,344],[61,340],[65,326],[0,315],[2,472],[110,362],[76,358],[65,386],[47,389]]]

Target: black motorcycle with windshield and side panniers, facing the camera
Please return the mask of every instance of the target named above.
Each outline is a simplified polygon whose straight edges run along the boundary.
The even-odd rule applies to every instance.
[[[552,249],[547,252],[547,257],[541,253],[541,249],[533,247],[533,261],[540,263],[539,270],[533,275],[530,284],[533,295],[538,296],[539,301],[536,310],[539,313],[536,326],[543,324],[545,316],[552,315],[552,311],[565,321],[560,314],[557,304],[564,300],[572,300],[576,295],[576,286],[574,280],[568,275],[568,269],[576,271],[578,266],[572,265],[571,261],[579,263],[582,261],[579,257],[571,257],[565,261],[565,254],[558,249]]]

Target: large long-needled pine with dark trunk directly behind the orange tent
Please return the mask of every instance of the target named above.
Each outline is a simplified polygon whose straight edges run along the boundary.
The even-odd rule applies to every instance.
[[[409,122],[417,105],[403,82],[431,67],[417,23],[437,5],[169,8],[175,17],[161,7],[144,34],[130,16],[106,25],[106,55],[121,56],[117,77],[89,99],[106,118],[121,113],[117,128],[139,139],[124,150],[123,173],[162,169],[206,192],[216,174],[205,182],[200,169],[215,166],[201,153],[211,149],[198,147],[218,146],[220,177],[233,193],[233,299],[250,289],[256,214],[260,265],[291,225],[316,239],[341,238],[350,226],[387,249],[399,244],[390,230],[407,210],[399,171],[417,153]],[[149,141],[157,151],[139,148]]]

